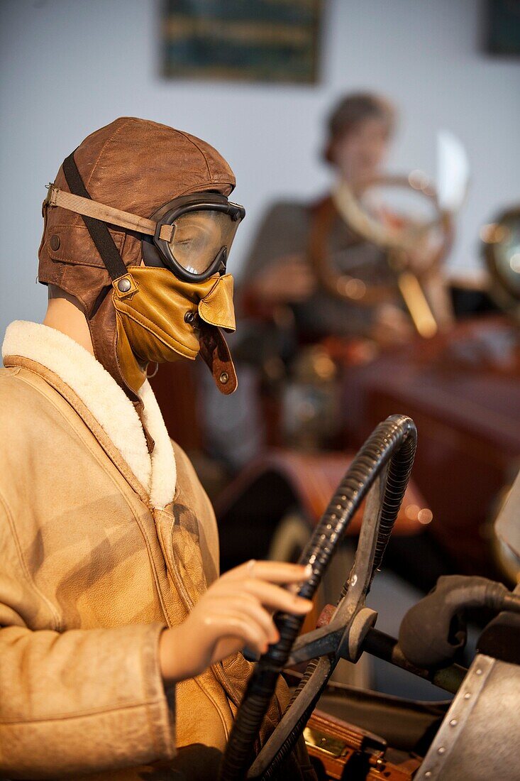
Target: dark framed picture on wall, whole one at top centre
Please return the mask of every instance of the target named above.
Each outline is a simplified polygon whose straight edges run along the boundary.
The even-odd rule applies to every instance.
[[[162,71],[174,79],[315,84],[322,0],[167,0]]]

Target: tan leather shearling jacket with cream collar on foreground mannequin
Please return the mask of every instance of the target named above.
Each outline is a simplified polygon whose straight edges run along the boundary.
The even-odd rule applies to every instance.
[[[65,334],[12,323],[3,356],[0,776],[179,778],[142,766],[222,751],[249,671],[237,654],[165,692],[158,669],[162,629],[218,576],[208,497],[148,382],[151,455],[130,400]]]

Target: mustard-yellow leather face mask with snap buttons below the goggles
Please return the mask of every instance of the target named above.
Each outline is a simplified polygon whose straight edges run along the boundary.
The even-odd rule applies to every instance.
[[[135,266],[112,283],[117,318],[117,358],[136,393],[148,362],[194,360],[199,351],[223,393],[237,387],[237,376],[219,329],[235,330],[233,276],[183,282],[169,269]]]

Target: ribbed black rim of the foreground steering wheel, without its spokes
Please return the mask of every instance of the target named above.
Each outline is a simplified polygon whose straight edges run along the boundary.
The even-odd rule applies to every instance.
[[[383,508],[372,569],[379,568],[386,544],[392,533],[397,513],[404,497],[415,456],[417,431],[406,415],[391,415],[372,432],[354,458],[344,479],[329,502],[316,526],[300,564],[312,565],[312,576],[301,587],[299,596],[312,599],[333,553],[343,539],[352,518],[381,469],[390,462]],[[262,720],[276,688],[276,682],[287,664],[294,640],[304,618],[278,613],[275,616],[280,640],[262,656],[249,679],[244,700],[237,711],[233,730],[226,747],[220,781],[244,779],[253,758],[253,747]],[[311,663],[312,664],[312,663]],[[288,739],[289,740],[289,739]],[[297,740],[294,737],[292,743]]]

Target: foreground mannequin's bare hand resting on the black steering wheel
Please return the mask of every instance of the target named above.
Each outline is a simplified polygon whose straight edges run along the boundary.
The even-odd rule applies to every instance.
[[[271,613],[304,615],[312,602],[282,585],[302,583],[310,572],[283,562],[247,562],[212,583],[187,619],[165,629],[159,664],[165,683],[193,678],[245,646],[264,654],[279,640]]]

